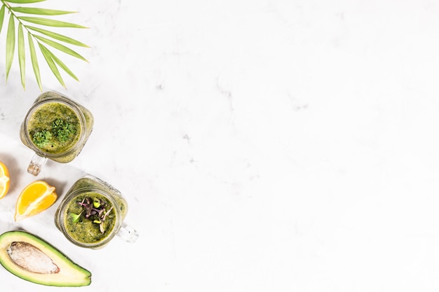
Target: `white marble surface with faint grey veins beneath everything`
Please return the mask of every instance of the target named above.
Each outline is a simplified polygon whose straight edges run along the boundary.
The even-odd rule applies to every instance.
[[[83,172],[109,181],[140,239],[72,246],[52,223],[58,203],[11,221],[32,180],[18,127],[40,93],[17,71],[0,88],[0,160],[16,179],[0,232],[26,228],[87,267],[81,291],[438,291],[437,1],[44,6],[90,27],[72,32],[92,47],[90,64],[69,62],[81,82],[43,74],[43,90],[88,107],[95,127],[41,177],[61,191]]]

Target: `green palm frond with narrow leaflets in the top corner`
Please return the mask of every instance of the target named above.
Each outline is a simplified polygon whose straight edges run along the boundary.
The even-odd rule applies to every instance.
[[[49,48],[55,48],[62,53],[76,57],[79,60],[88,62],[85,57],[76,53],[75,50],[68,46],[78,46],[83,48],[90,48],[85,43],[81,43],[76,39],[72,39],[58,32],[53,32],[42,27],[56,27],[56,28],[76,28],[86,29],[82,25],[76,25],[72,22],[64,22],[47,18],[48,16],[66,15],[76,13],[76,11],[62,11],[55,9],[36,8],[36,7],[22,7],[12,6],[11,4],[33,4],[43,2],[46,0],[0,0],[0,33],[4,26],[5,15],[9,15],[8,28],[6,32],[6,81],[11,71],[14,60],[15,48],[17,48],[18,65],[20,68],[20,77],[22,87],[25,89],[25,71],[26,71],[26,48],[29,49],[30,62],[34,71],[36,83],[40,90],[41,74],[39,69],[39,61],[36,48],[43,56],[46,64],[52,71],[58,82],[65,88],[65,82],[60,74],[60,69],[67,73],[74,80],[79,81],[76,75],[70,70],[67,65],[57,57]],[[30,16],[32,15],[32,16]],[[35,16],[38,15],[38,16]],[[18,27],[16,25],[18,24]],[[36,26],[35,26],[36,25]],[[27,38],[25,38],[27,34]],[[45,46],[48,45],[48,46]]]

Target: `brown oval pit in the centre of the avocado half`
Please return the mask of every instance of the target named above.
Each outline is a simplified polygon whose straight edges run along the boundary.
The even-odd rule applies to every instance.
[[[27,242],[12,242],[7,249],[11,260],[22,269],[38,274],[60,272],[58,265],[40,249]]]

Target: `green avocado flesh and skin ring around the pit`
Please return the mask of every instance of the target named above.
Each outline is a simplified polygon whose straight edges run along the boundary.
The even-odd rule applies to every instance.
[[[60,268],[53,274],[29,272],[15,264],[8,255],[13,242],[26,242],[40,249]],[[56,249],[41,237],[22,230],[7,231],[0,235],[0,264],[15,276],[35,284],[45,286],[88,286],[91,284],[91,272],[74,263],[64,253]]]

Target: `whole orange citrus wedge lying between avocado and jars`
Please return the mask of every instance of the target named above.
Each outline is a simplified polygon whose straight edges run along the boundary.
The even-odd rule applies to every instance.
[[[15,221],[34,216],[48,209],[58,198],[55,187],[46,181],[34,181],[18,195],[15,205]]]

